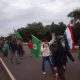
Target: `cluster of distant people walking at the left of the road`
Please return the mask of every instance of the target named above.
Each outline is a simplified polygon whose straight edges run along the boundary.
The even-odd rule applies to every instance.
[[[24,55],[23,42],[15,37],[12,37],[10,40],[0,40],[0,51],[3,53],[3,57],[7,58],[10,55],[11,63],[13,63],[13,58],[15,58],[15,62],[20,64],[20,57]]]

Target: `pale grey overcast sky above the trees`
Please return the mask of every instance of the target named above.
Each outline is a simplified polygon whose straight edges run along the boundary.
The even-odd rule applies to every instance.
[[[68,24],[67,15],[77,8],[80,0],[0,0],[0,36],[33,22]]]

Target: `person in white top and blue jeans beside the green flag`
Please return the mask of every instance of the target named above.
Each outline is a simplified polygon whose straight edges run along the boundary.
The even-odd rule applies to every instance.
[[[51,60],[50,60],[50,49],[49,49],[49,45],[48,45],[48,42],[47,40],[44,40],[42,41],[41,43],[41,55],[42,55],[42,73],[43,74],[46,74],[45,72],[45,62],[48,61],[50,67],[51,67],[51,70],[52,70],[52,73],[53,73],[53,65],[51,63]]]

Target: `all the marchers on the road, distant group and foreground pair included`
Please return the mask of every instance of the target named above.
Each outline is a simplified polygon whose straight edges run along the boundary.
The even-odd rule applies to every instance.
[[[45,62],[48,61],[56,80],[66,80],[64,72],[66,70],[66,63],[68,62],[67,57],[74,63],[76,61],[71,55],[64,37],[56,37],[55,34],[51,35],[52,40],[50,42],[48,42],[46,38],[41,41],[42,74],[46,74]],[[32,49],[31,40],[28,42],[28,47]],[[4,57],[8,57],[8,52],[10,51],[11,63],[13,62],[13,57],[15,57],[16,63],[20,64],[19,57],[23,57],[24,55],[23,42],[21,39],[12,38],[10,41],[0,40],[0,50],[3,52]]]

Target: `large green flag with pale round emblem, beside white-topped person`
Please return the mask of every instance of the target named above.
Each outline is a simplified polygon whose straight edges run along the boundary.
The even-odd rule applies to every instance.
[[[40,55],[40,43],[41,43],[41,41],[32,35],[32,44],[33,44],[32,54],[35,57],[39,57],[39,55]]]

